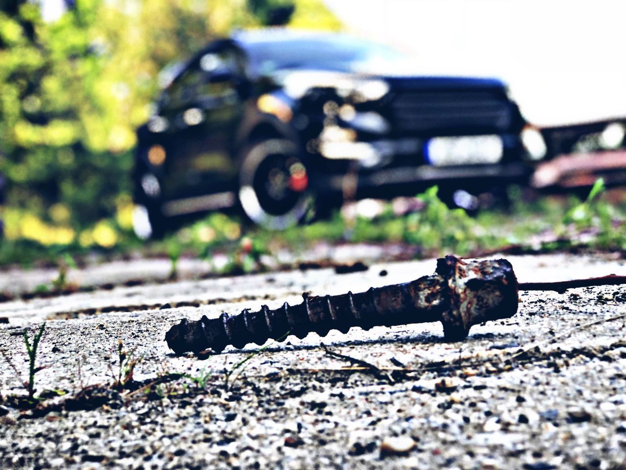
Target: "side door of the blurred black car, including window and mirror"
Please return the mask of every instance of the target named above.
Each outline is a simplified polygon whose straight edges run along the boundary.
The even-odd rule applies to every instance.
[[[162,115],[171,132],[165,199],[233,191],[237,169],[230,152],[244,109],[243,70],[239,50],[216,43],[163,94]]]

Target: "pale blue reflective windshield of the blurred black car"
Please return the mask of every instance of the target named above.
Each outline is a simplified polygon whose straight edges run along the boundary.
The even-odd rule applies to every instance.
[[[339,34],[257,39],[245,43],[244,48],[253,73],[260,75],[280,70],[362,71],[404,58],[388,46]]]

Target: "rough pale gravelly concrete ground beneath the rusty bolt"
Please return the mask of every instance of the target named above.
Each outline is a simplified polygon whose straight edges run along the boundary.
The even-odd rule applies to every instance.
[[[520,281],[626,274],[611,256],[508,259]],[[3,397],[24,394],[21,332],[32,335],[41,321],[37,393],[68,392],[36,410],[0,404],[0,468],[626,469],[623,286],[521,292],[515,317],[475,326],[458,343],[443,342],[439,323],[311,333],[205,360],[177,357],[163,340],[183,316],[275,308],[299,303],[303,291],[361,291],[434,266],[188,279],[0,303],[8,320],[0,348],[21,372],[0,358]],[[118,392],[109,384],[120,340],[140,361]],[[180,373],[195,380],[173,380]]]

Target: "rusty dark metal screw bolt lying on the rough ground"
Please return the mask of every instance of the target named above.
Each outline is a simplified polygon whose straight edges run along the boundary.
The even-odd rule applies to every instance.
[[[459,341],[472,325],[515,315],[517,292],[513,266],[506,259],[466,261],[448,255],[437,260],[432,276],[356,294],[310,297],[305,293],[300,305],[285,302],[276,310],[264,305],[259,311],[246,309],[234,316],[183,319],[170,328],[165,340],[176,353],[209,348],[221,352],[227,345],[242,348],[248,343],[262,345],[269,338],[284,340],[288,332],[304,338],[310,332],[326,336],[332,329],[347,333],[351,326],[368,330],[441,321],[446,340]]]

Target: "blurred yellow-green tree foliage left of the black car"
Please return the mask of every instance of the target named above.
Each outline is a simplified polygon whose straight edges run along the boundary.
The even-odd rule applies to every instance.
[[[38,2],[0,4],[7,238],[108,248],[128,237],[135,129],[151,113],[159,71],[213,36],[264,24],[279,3],[77,0],[53,23]],[[300,23],[319,12],[318,28],[337,28],[321,0],[295,5]]]

